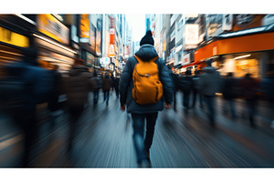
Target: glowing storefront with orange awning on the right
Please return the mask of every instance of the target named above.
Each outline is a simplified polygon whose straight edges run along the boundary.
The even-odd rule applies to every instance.
[[[272,26],[218,35],[215,41],[195,51],[195,62],[213,58],[213,66],[222,76],[234,72],[237,77],[247,73],[257,78],[264,77],[266,72],[273,70]]]

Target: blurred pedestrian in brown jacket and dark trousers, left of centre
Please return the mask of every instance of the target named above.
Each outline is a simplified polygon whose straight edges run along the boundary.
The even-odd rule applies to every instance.
[[[68,73],[67,106],[69,116],[68,152],[71,151],[79,127],[78,121],[89,100],[90,72],[82,59],[75,59]]]

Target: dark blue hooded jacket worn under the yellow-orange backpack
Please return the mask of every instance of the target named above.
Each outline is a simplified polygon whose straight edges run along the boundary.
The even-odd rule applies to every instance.
[[[153,57],[158,56],[153,45],[142,45],[139,51],[135,54],[140,57],[142,61],[149,61]],[[153,113],[163,110],[163,97],[166,103],[170,104],[173,101],[173,80],[169,74],[168,67],[165,66],[163,59],[158,58],[155,63],[159,69],[160,81],[163,84],[163,97],[155,104],[139,105],[132,97],[132,72],[134,66],[137,64],[134,56],[130,57],[124,67],[120,77],[120,102],[121,105],[126,104],[127,112],[129,113]]]

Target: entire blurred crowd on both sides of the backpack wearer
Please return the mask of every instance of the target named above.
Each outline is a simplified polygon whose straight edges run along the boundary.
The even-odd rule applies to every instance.
[[[257,112],[258,100],[268,102],[272,112],[272,126],[274,127],[274,75],[270,72],[264,79],[258,80],[250,74],[242,78],[235,78],[233,73],[222,77],[207,61],[207,66],[191,70],[184,75],[177,75],[170,69],[174,80],[174,110],[176,111],[176,93],[181,91],[184,95],[184,112],[198,106],[205,108],[208,120],[212,126],[216,123],[216,95],[224,99],[223,112],[237,118],[239,113],[235,107],[237,98],[245,100],[245,114],[248,116],[250,126],[256,127],[254,116]],[[63,110],[69,116],[68,153],[73,147],[76,136],[77,121],[84,109],[90,104],[92,96],[93,106],[99,101],[100,92],[103,92],[105,106],[109,105],[110,91],[115,90],[119,102],[119,76],[110,73],[101,75],[97,71],[90,72],[85,62],[76,58],[67,74],[60,74],[58,66],[47,63],[38,64],[37,49],[31,48],[24,52],[22,61],[6,64],[1,69],[0,79],[0,110],[12,117],[16,126],[24,135],[24,155],[22,167],[28,167],[30,153],[37,138],[37,131],[43,113],[47,112],[47,120],[55,126],[58,111]],[[92,93],[92,95],[90,95]],[[191,99],[192,98],[192,99]]]

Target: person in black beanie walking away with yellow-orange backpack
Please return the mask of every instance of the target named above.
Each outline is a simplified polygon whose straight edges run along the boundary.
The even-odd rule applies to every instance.
[[[173,80],[155,48],[151,31],[140,42],[140,49],[127,60],[120,76],[121,110],[132,114],[133,143],[139,167],[151,167],[150,148],[158,112],[173,102]],[[127,107],[126,107],[127,106]],[[146,120],[146,132],[143,136]]]

